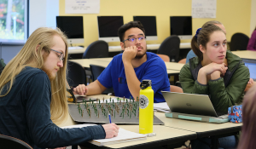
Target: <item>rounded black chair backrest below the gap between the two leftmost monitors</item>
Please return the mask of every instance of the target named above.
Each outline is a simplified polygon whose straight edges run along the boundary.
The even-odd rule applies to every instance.
[[[102,40],[90,43],[83,54],[83,59],[105,57],[108,57],[108,43]]]

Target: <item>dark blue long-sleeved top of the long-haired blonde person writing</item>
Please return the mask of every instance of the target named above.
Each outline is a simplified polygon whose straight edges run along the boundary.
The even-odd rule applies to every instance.
[[[105,138],[101,125],[61,129],[50,119],[49,77],[26,67],[15,77],[9,94],[0,98],[0,134],[26,141],[33,148],[73,146]],[[6,86],[3,92],[6,91]]]

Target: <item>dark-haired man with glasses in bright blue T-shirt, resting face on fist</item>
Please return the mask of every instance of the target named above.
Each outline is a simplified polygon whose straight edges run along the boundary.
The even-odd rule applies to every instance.
[[[115,96],[137,100],[143,79],[152,81],[154,102],[165,102],[161,90],[170,91],[166,65],[156,54],[147,52],[145,30],[139,21],[131,21],[119,28],[123,54],[113,57],[107,68],[93,83],[79,85],[74,91],[79,95],[101,94],[112,88]]]

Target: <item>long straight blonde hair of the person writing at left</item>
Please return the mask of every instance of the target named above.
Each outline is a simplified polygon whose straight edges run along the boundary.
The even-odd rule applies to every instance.
[[[54,80],[50,80],[51,84],[51,102],[50,113],[51,120],[55,124],[60,124],[67,119],[67,91],[66,91],[66,72],[67,72],[67,37],[60,29],[52,29],[48,27],[38,28],[32,35],[28,37],[24,47],[10,60],[3,69],[0,76],[0,97],[9,94],[15,77],[26,67],[31,66],[42,69],[44,66],[43,50],[49,54],[50,48],[53,46],[53,37],[59,36],[66,44],[66,54],[63,60],[63,67],[57,72]],[[9,88],[3,93],[3,86],[8,84]]]

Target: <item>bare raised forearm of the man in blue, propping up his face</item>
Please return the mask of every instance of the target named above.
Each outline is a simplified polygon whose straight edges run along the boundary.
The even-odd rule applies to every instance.
[[[124,63],[125,77],[128,85],[128,89],[135,100],[140,95],[140,81],[137,79],[131,63]]]

